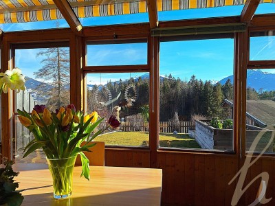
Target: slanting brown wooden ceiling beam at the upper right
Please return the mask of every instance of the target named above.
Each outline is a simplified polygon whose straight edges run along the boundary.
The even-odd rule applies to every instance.
[[[243,7],[243,10],[241,11],[241,22],[248,23],[251,21],[260,1],[261,0],[247,0],[245,2],[245,6]]]

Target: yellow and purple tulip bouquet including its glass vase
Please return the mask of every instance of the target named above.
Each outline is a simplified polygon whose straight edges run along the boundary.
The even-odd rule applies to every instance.
[[[52,172],[55,198],[72,194],[72,171],[77,155],[82,162],[81,176],[89,180],[89,159],[83,152],[90,152],[89,148],[95,144],[89,142],[104,130],[120,126],[120,122],[111,116],[107,126],[98,130],[97,126],[104,118],[98,118],[96,111],[91,114],[76,111],[73,104],[61,107],[55,113],[51,113],[45,105],[34,106],[31,114],[20,110],[18,113],[21,124],[34,135],[25,147],[23,157],[38,148],[43,149]],[[82,144],[84,141],[85,144]]]

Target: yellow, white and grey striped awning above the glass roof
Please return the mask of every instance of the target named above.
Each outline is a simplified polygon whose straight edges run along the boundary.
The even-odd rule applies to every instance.
[[[79,18],[147,12],[146,0],[68,0]],[[242,5],[246,0],[156,0],[158,11]],[[261,3],[275,3],[262,0]],[[52,0],[0,0],[0,23],[63,19]]]

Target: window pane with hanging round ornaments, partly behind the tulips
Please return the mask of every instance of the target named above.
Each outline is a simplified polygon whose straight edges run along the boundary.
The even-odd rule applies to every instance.
[[[96,137],[112,146],[148,146],[149,73],[87,74],[87,111],[120,119],[118,130]],[[106,126],[104,123],[100,128]]]

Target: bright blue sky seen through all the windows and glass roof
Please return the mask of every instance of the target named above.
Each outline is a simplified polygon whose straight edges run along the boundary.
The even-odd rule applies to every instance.
[[[158,12],[159,21],[178,19],[195,19],[217,16],[234,16],[241,14],[243,5],[225,6],[195,10],[178,10]],[[274,13],[275,3],[259,5],[256,14]],[[130,14],[120,16],[104,16],[80,19],[84,26],[111,25],[121,23],[148,22],[148,14]],[[34,23],[12,23],[0,25],[4,32],[19,30],[40,30],[55,27],[56,21]],[[61,27],[69,27],[65,20],[59,20]],[[273,34],[274,35],[274,34]],[[275,59],[275,36],[251,38],[250,59]],[[215,39],[199,41],[162,42],[160,44],[159,73],[175,76],[181,80],[189,80],[192,75],[205,80],[219,81],[233,74],[233,39]],[[42,67],[36,53],[40,49],[21,49],[16,52],[16,66],[21,68],[25,76],[34,78],[33,71]],[[89,45],[88,65],[142,65],[147,62],[146,43],[123,45]],[[28,58],[27,58],[28,57]],[[275,73],[275,69],[269,70]],[[144,73],[102,73],[88,76],[89,84],[104,84],[107,80],[128,79]]]

